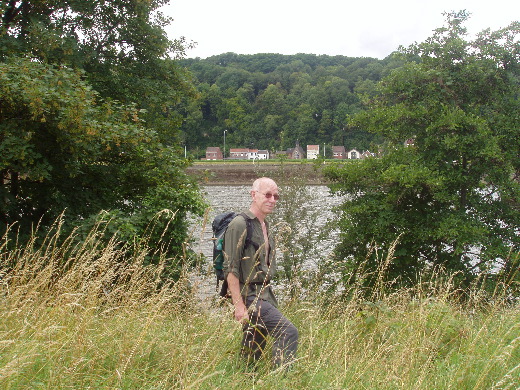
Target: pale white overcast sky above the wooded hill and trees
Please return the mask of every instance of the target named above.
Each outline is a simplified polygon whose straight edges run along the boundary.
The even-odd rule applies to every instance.
[[[443,12],[467,10],[468,32],[520,20],[518,0],[170,0],[170,39],[197,42],[189,58],[237,54],[328,54],[384,58],[423,42]]]

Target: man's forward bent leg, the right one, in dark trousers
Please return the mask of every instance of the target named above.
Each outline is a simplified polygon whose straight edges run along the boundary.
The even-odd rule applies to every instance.
[[[248,302],[250,304],[250,302]],[[265,329],[274,338],[273,361],[281,366],[290,363],[298,349],[298,330],[283,314],[267,301],[258,300],[250,316],[250,324]],[[262,337],[262,348],[265,337]]]

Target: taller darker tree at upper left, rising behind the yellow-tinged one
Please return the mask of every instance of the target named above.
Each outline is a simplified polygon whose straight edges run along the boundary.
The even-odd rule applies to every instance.
[[[184,38],[171,41],[172,19],[160,7],[169,0],[10,0],[0,5],[0,60],[29,56],[85,71],[103,98],[135,103],[163,142],[182,124],[177,106],[194,94],[189,76],[172,59]]]

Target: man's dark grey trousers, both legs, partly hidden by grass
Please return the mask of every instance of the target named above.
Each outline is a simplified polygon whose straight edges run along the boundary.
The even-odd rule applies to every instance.
[[[277,366],[290,364],[298,349],[298,329],[269,302],[248,298],[246,306],[255,305],[244,325],[242,352],[248,359],[258,360],[265,349],[267,336],[274,339],[273,362]]]

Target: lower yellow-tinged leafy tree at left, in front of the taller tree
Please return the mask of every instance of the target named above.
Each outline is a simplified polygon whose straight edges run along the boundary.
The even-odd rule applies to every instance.
[[[143,126],[135,106],[103,102],[81,72],[30,60],[0,64],[0,79],[4,228],[16,222],[30,231],[65,209],[72,220],[112,210],[131,239],[171,209],[172,248],[180,251],[183,216],[202,201],[184,162]]]

